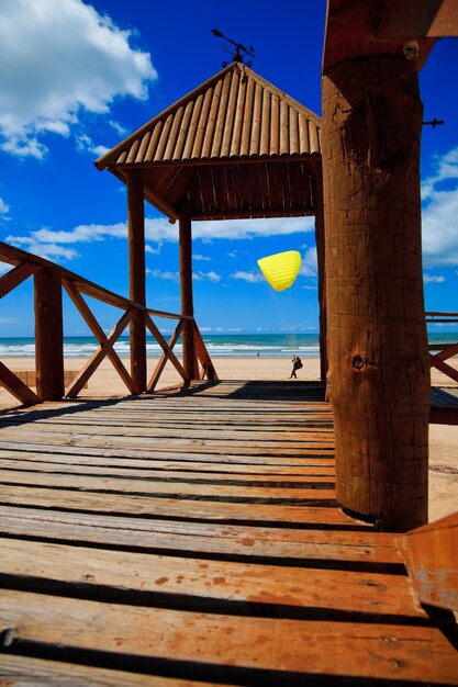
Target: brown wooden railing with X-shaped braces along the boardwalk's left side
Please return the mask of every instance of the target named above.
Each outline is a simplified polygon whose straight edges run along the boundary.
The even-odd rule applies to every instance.
[[[76,397],[105,357],[112,362],[129,392],[131,394],[141,393],[142,390],[136,387],[132,374],[129,373],[114,350],[114,344],[138,312],[142,313],[145,327],[163,349],[163,354],[147,384],[147,392],[153,392],[156,388],[167,361],[170,361],[175,367],[183,382],[190,381],[181,362],[174,353],[174,347],[189,320],[192,320],[194,349],[197,359],[201,364],[200,369],[196,364],[196,376],[198,379],[217,379],[193,317],[144,307],[48,260],[1,241],[0,260],[13,266],[9,272],[0,278],[0,297],[13,291],[30,277],[34,279],[36,393],[3,362],[0,362],[0,384],[24,405],[59,399],[64,396]],[[99,344],[96,352],[67,388],[65,388],[64,383],[63,289],[68,293]],[[83,296],[93,297],[123,311],[122,316],[108,336]],[[175,331],[168,341],[160,334],[153,317],[177,320]]]

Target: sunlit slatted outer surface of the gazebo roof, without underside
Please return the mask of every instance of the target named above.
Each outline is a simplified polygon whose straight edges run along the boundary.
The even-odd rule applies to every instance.
[[[269,106],[270,99],[272,99],[271,108]],[[190,103],[193,103],[191,119],[189,119]],[[261,106],[260,103],[262,103]],[[171,159],[217,159],[238,155],[295,154],[299,151],[290,149],[289,144],[289,117],[284,120],[286,111],[290,108],[298,114],[302,114],[306,121],[320,126],[320,117],[310,110],[248,67],[233,64],[134,132],[99,158],[96,166],[104,169],[113,165],[143,165]],[[186,126],[181,126],[185,112],[187,113]],[[281,117],[283,117],[282,129],[281,134],[278,132],[279,135],[277,135]],[[258,133],[259,126],[260,133]],[[159,142],[157,142],[159,135],[159,132],[156,133],[157,127],[160,131]],[[256,132],[254,137],[250,135],[252,131]],[[154,146],[149,149],[146,143],[141,145],[147,139],[148,133],[150,142],[154,140],[157,145],[154,153]],[[269,149],[267,149],[267,138],[270,139]],[[258,142],[260,142],[260,148],[258,148]],[[319,143],[313,150],[304,149],[302,154],[314,153],[320,153]]]

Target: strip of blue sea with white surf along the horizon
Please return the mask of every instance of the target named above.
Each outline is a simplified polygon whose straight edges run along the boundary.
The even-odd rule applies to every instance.
[[[164,335],[166,340],[168,335]],[[317,358],[320,356],[319,334],[202,334],[206,349],[213,358],[284,358],[299,356]],[[429,331],[429,344],[435,341],[456,344],[457,331]],[[98,349],[97,340],[91,336],[65,337],[64,356],[67,358],[89,358]],[[114,345],[120,357],[129,357],[129,337],[121,336]],[[152,337],[147,337],[148,358],[158,358],[163,350]],[[179,356],[178,342],[174,351]],[[33,358],[35,340],[33,337],[0,338],[0,358]]]

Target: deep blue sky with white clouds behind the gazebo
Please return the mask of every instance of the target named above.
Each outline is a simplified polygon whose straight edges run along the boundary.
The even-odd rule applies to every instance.
[[[212,27],[256,50],[253,68],[321,114],[325,0],[2,0],[0,237],[127,294],[124,185],[93,166],[105,149],[222,68]],[[421,72],[427,309],[458,311],[458,42]],[[146,205],[147,300],[179,312],[177,227]],[[275,294],[256,260],[300,250],[301,274]],[[313,218],[194,224],[196,317],[203,331],[317,328]],[[1,267],[1,264],[0,264]],[[111,308],[94,307],[109,329]],[[87,331],[66,303],[68,336]],[[33,335],[31,280],[2,302],[0,337]]]

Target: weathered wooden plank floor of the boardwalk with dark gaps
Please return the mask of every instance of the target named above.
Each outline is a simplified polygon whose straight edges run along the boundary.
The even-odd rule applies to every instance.
[[[319,385],[0,417],[0,685],[458,685],[395,534],[343,513]]]

